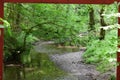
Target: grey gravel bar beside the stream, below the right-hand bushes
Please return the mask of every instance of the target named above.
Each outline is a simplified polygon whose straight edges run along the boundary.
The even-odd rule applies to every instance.
[[[36,46],[39,49],[40,46]],[[40,51],[40,49],[39,49]],[[86,64],[82,58],[84,50],[63,54],[50,54],[50,59],[57,67],[67,72],[68,75],[56,80],[111,80],[114,69],[106,73],[100,73],[95,65]]]

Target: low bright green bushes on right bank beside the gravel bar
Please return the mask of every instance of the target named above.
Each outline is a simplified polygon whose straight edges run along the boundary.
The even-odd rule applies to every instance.
[[[86,63],[97,64],[103,72],[111,69],[110,65],[115,65],[116,51],[117,30],[111,30],[107,32],[105,40],[91,40],[83,57]]]

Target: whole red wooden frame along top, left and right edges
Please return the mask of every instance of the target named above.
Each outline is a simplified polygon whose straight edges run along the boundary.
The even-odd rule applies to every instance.
[[[111,4],[114,1],[120,2],[120,0],[0,0],[0,17],[4,16],[4,6],[5,2],[10,3],[63,3],[63,4]],[[120,12],[120,7],[119,7]],[[118,23],[120,24],[120,18],[118,18]],[[0,24],[2,24],[0,22]],[[3,80],[3,28],[0,28],[0,80]],[[118,29],[118,37],[120,37],[120,29]],[[120,46],[118,45],[120,48]],[[117,61],[120,62],[120,52],[117,52]],[[120,80],[120,66],[117,66],[117,79]]]

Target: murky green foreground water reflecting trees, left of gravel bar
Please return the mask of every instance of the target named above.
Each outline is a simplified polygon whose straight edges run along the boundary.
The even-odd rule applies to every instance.
[[[64,74],[50,61],[48,55],[43,53],[32,56],[29,66],[27,64],[4,67],[4,80],[53,80]]]

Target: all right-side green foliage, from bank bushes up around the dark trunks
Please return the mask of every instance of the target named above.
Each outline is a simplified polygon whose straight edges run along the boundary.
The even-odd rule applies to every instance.
[[[107,16],[109,16],[108,14],[113,14],[117,12],[116,4],[112,4],[109,6],[105,6],[105,5],[96,6],[94,8],[95,12],[99,11],[102,6],[104,6],[104,10],[105,10],[104,14],[106,14]],[[99,16],[96,16],[96,19],[98,18]],[[89,32],[88,35],[89,42],[87,44],[87,50],[83,55],[86,63],[97,65],[97,69],[100,70],[101,72],[108,71],[113,67],[115,67],[116,65],[117,30],[114,28],[117,25],[113,25],[113,24],[117,23],[117,19],[115,17],[108,18],[105,16],[105,22],[107,22],[107,24],[110,25],[108,27],[104,27],[106,30],[105,40],[98,39],[99,33],[97,32],[99,32],[101,26],[99,24],[96,24],[95,25],[96,32],[92,32],[92,33]]]

